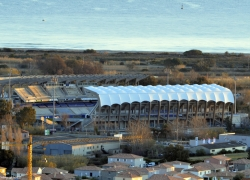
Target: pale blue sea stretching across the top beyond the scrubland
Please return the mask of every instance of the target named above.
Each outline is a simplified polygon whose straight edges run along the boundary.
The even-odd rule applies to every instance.
[[[0,0],[0,48],[250,53],[250,0]]]

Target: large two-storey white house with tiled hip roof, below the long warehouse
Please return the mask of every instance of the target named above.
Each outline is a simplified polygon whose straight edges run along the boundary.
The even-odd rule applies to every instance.
[[[108,157],[108,163],[112,162],[123,162],[129,164],[132,167],[145,167],[146,162],[143,160],[142,156],[137,156],[135,154],[114,154]]]

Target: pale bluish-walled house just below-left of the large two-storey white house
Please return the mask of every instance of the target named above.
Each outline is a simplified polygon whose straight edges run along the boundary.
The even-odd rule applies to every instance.
[[[84,167],[79,167],[74,170],[74,174],[76,176],[82,177],[95,177],[99,178],[101,175],[102,168],[99,168],[97,166],[84,166]]]

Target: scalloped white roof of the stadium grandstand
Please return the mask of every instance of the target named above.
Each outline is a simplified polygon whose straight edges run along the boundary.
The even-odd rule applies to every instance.
[[[89,86],[86,89],[96,93],[100,105],[111,106],[143,101],[215,101],[234,103],[231,90],[217,84],[202,85],[157,85],[157,86]]]

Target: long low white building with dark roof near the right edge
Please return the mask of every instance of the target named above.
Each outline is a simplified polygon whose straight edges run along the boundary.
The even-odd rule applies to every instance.
[[[234,152],[236,150],[246,151],[247,145],[239,142],[223,142],[223,143],[214,143],[214,144],[202,144],[198,146],[191,147],[189,151],[191,153],[196,153],[197,150],[203,149],[206,154],[218,154],[221,150]]]

